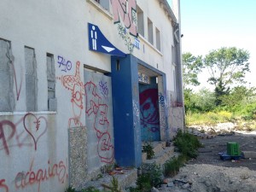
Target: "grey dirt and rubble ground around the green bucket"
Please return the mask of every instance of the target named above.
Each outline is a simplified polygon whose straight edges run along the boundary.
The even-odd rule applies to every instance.
[[[218,153],[227,143],[238,143],[241,152],[256,153],[256,132],[229,131],[216,137],[200,139],[204,148],[197,159],[189,160],[177,176],[154,191],[160,192],[256,192],[256,156],[240,160],[221,160]]]

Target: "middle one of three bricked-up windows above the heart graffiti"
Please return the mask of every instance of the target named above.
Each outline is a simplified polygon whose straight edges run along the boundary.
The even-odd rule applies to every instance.
[[[38,75],[35,49],[25,47],[26,111],[38,111]]]

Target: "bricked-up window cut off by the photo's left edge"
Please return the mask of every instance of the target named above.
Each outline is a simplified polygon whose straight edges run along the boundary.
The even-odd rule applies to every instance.
[[[0,111],[14,111],[14,57],[9,41],[0,39]]]

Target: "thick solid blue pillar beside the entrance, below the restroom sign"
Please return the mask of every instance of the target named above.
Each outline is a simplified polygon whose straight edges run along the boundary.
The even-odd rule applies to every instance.
[[[115,160],[119,166],[140,166],[137,58],[113,56],[111,66]]]

